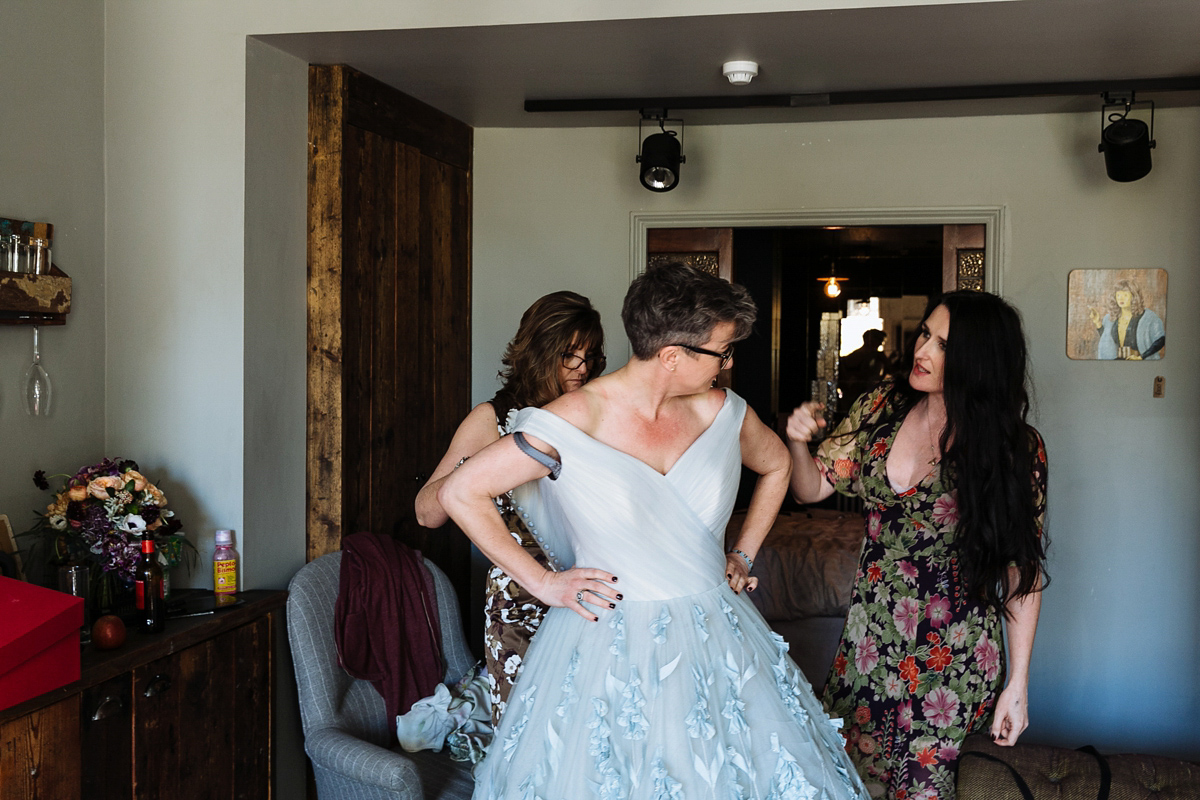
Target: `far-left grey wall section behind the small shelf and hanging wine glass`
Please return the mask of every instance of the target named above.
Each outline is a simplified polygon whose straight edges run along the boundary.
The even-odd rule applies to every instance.
[[[0,216],[54,224],[54,261],[72,289],[67,324],[41,329],[54,389],[48,419],[26,416],[22,404],[32,329],[0,325],[0,513],[19,533],[50,499],[34,470],[74,473],[103,455],[102,0],[5,2],[0,76]],[[119,357],[142,348],[124,342]]]

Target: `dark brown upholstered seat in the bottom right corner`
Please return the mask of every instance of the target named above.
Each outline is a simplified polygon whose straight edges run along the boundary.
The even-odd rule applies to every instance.
[[[974,754],[972,754],[974,753]],[[1096,756],[1079,750],[1022,745],[1000,747],[985,735],[968,736],[959,760],[959,800],[1022,800],[1012,765],[1033,800],[1097,800],[1103,771]],[[1104,756],[1108,800],[1200,800],[1200,764],[1159,756]]]

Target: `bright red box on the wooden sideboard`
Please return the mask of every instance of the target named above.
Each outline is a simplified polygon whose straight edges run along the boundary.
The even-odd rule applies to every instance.
[[[79,680],[83,599],[0,577],[0,710]]]

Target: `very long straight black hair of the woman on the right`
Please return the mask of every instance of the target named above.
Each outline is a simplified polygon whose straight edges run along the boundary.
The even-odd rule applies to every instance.
[[[1049,584],[1033,491],[1037,432],[1030,411],[1028,359],[1021,317],[985,291],[950,291],[930,301],[950,313],[943,362],[943,469],[958,493],[959,565],[967,591],[1007,615],[1006,603]],[[908,385],[916,342],[893,384],[895,416],[923,393]],[[895,419],[895,417],[893,417]],[[1020,573],[1009,584],[1009,565]],[[1040,579],[1040,583],[1039,583]]]

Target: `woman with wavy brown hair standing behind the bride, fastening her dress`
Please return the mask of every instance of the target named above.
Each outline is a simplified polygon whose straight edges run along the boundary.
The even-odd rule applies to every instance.
[[[554,291],[536,300],[521,317],[517,333],[502,359],[500,391],[480,403],[455,432],[445,456],[416,494],[416,522],[440,528],[449,517],[438,503],[438,489],[458,464],[509,433],[512,417],[526,407],[542,407],[578,389],[605,368],[600,314],[587,297]],[[510,487],[511,488],[511,487]],[[546,553],[530,531],[512,492],[499,493],[496,507],[512,541],[538,564]],[[492,723],[498,723],[509,691],[521,670],[529,639],[538,631],[546,606],[498,566],[487,573],[484,615],[485,658],[492,694]]]

